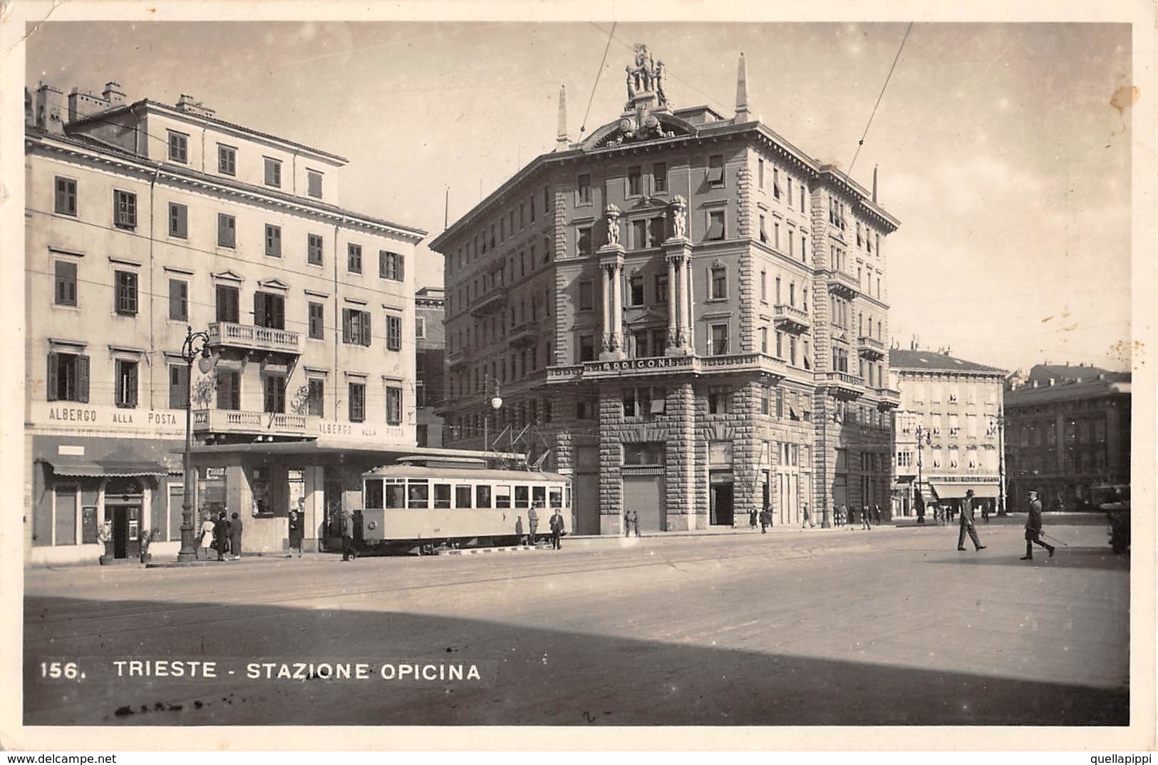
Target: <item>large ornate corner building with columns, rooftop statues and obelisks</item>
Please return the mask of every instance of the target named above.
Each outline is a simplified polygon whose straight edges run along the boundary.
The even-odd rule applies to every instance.
[[[432,242],[447,445],[571,474],[580,534],[625,508],[676,531],[887,504],[899,223],[752,116],[742,56],[731,117],[665,86],[637,46],[623,114],[580,143],[560,92],[555,151]]]

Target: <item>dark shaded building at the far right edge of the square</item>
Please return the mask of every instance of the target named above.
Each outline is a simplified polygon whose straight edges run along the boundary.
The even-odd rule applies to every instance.
[[[1091,489],[1130,483],[1130,374],[1038,364],[1005,392],[1011,509],[1036,489],[1048,509],[1090,509]]]

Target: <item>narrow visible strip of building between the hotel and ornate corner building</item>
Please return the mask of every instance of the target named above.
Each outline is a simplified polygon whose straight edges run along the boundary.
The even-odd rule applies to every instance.
[[[442,445],[442,401],[446,379],[446,333],[442,287],[425,286],[415,294],[415,406],[419,446]]]

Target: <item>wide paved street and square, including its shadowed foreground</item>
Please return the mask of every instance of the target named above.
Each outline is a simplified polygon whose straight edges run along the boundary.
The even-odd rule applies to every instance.
[[[25,723],[1126,724],[1129,559],[1100,525],[1047,518],[1070,546],[1032,562],[1020,520],[980,531],[982,552],[886,526],[29,568]],[[116,677],[161,658],[219,677]]]

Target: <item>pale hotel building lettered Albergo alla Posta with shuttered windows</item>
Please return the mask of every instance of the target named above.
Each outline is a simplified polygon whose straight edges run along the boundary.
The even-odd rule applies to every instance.
[[[199,511],[307,546],[358,473],[415,445],[415,245],[342,206],[346,160],[110,82],[25,94],[27,559],[179,546],[185,410]],[[211,351],[183,347],[204,333]],[[199,347],[200,337],[193,343]]]

